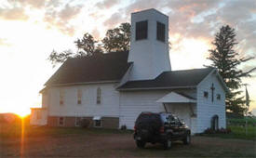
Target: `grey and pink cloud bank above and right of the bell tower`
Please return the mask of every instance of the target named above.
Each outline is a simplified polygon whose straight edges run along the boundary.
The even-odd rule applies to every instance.
[[[214,34],[219,32],[221,26],[229,24],[236,29],[238,51],[244,55],[249,51],[256,52],[256,2],[254,1],[172,0],[155,3],[155,0],[138,0],[122,9],[126,17],[129,17],[131,12],[152,7],[168,15],[169,37],[175,39],[172,46],[179,46],[181,39],[184,38],[203,39],[210,45]],[[111,19],[105,21],[106,24],[115,24],[115,18],[120,19],[118,15],[113,15]]]

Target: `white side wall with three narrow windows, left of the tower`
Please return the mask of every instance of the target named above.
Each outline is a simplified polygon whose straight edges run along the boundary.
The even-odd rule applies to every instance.
[[[97,104],[97,88],[101,88],[101,104]],[[77,104],[77,89],[81,89],[82,103]],[[60,105],[60,90],[63,105]],[[119,92],[115,84],[61,86],[49,89],[50,116],[119,116]]]

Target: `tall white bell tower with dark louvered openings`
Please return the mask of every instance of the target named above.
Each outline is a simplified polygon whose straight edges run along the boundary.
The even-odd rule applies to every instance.
[[[129,80],[155,79],[171,71],[168,55],[168,16],[152,9],[131,14],[128,62],[133,62]]]

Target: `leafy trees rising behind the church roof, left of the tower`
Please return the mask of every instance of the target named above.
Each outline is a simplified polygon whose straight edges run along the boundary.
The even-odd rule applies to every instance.
[[[48,60],[53,66],[70,58],[81,58],[101,54],[103,52],[128,51],[130,41],[130,24],[121,23],[120,26],[110,29],[101,41],[97,41],[90,33],[85,33],[82,38],[74,41],[77,51],[52,50]]]

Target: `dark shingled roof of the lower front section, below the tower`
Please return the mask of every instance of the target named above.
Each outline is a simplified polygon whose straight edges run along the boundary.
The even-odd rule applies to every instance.
[[[154,80],[128,81],[119,90],[182,88],[197,86],[213,68],[162,72]]]

